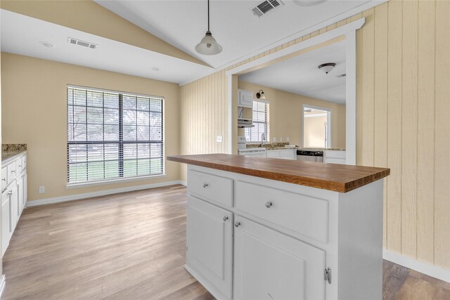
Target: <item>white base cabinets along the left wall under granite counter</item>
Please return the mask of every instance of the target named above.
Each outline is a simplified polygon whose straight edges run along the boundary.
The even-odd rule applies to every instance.
[[[5,254],[15,226],[27,204],[27,156],[6,160],[1,168],[1,255]]]

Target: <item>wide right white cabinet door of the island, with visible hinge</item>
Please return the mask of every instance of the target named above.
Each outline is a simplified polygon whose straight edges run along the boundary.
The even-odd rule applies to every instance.
[[[234,299],[325,299],[325,252],[235,217]]]

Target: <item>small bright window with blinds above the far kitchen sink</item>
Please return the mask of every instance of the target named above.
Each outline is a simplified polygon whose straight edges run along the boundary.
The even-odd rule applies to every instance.
[[[264,141],[269,141],[268,119],[269,103],[263,101],[253,101],[253,124],[255,127],[245,127],[245,139],[250,143],[261,142],[262,133],[266,137]]]

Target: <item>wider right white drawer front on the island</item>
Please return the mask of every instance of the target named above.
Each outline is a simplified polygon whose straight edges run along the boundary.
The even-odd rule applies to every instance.
[[[328,201],[236,181],[236,208],[252,216],[328,242]]]

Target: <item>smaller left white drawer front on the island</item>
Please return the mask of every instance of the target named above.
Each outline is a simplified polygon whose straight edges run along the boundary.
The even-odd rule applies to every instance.
[[[188,193],[232,207],[233,179],[189,170]]]

